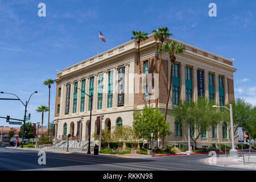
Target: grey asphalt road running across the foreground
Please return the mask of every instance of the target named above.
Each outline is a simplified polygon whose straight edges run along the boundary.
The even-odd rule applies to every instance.
[[[38,151],[0,147],[0,170],[47,170],[47,171],[170,171],[170,170],[248,170],[212,166],[203,163],[208,155],[161,156],[156,158],[117,158],[115,156],[62,154],[46,152],[46,165],[38,164]]]

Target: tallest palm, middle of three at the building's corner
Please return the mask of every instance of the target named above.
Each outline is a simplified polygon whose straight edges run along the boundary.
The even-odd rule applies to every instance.
[[[159,27],[157,30],[153,30],[152,33],[155,34],[154,38],[155,39],[160,39],[161,41],[161,46],[160,48],[163,46],[163,42],[164,42],[164,38],[168,38],[170,35],[172,35],[171,33],[168,32],[169,29],[168,27]],[[161,68],[161,62],[162,62],[162,52],[159,52],[159,65],[158,65],[158,84],[160,81],[160,68]],[[156,98],[156,108],[158,107],[158,98]]]

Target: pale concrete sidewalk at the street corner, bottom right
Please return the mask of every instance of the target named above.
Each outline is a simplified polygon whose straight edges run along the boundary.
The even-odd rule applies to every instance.
[[[210,157],[204,159],[204,163],[226,166],[226,167],[237,167],[237,168],[247,168],[256,170],[256,155],[250,155],[250,160],[248,162],[248,155],[245,155],[245,164],[243,163],[243,157],[240,155],[238,158],[230,158],[229,156]]]

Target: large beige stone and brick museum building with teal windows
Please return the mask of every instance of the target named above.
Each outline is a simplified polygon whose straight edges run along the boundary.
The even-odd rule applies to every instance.
[[[174,39],[166,39],[168,42],[171,40]],[[172,110],[172,106],[181,100],[196,101],[200,96],[214,100],[220,106],[234,100],[233,73],[236,69],[233,68],[232,60],[180,43],[185,50],[175,55],[172,99],[168,109]],[[141,42],[139,64],[138,44],[131,40],[57,73],[55,137],[63,139],[68,134],[78,136],[81,132],[82,140],[88,138],[91,100],[86,94],[93,97],[92,133],[97,130],[98,115],[104,115],[103,129],[108,127],[111,130],[113,126],[121,125],[132,126],[133,113],[142,110],[145,104],[155,107],[157,96],[159,107],[164,113],[171,62],[168,53],[163,53],[158,87],[158,78],[154,73],[158,73],[159,46],[160,41],[155,40],[154,35]],[[152,83],[143,81],[150,74]],[[77,92],[76,88],[79,88]],[[155,89],[154,92],[149,91],[150,88]],[[159,88],[159,93],[156,88]],[[170,115],[167,115],[167,121],[170,122],[172,133],[166,137],[165,144],[187,143],[188,127],[179,125]],[[218,142],[231,143],[229,127],[229,123],[221,123],[217,126],[217,134],[213,127],[202,134],[197,143],[214,143],[215,137]]]

